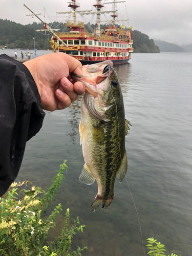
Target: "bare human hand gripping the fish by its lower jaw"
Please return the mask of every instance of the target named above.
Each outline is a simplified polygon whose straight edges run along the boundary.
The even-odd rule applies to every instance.
[[[86,90],[81,82],[71,83],[69,74],[82,74],[81,63],[65,53],[50,53],[24,62],[37,85],[44,110],[65,109]]]

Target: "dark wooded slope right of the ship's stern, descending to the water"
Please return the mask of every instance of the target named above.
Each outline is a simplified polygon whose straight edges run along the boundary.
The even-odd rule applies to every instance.
[[[153,39],[140,31],[132,31],[133,48],[134,52],[160,52],[159,47],[155,45]]]

